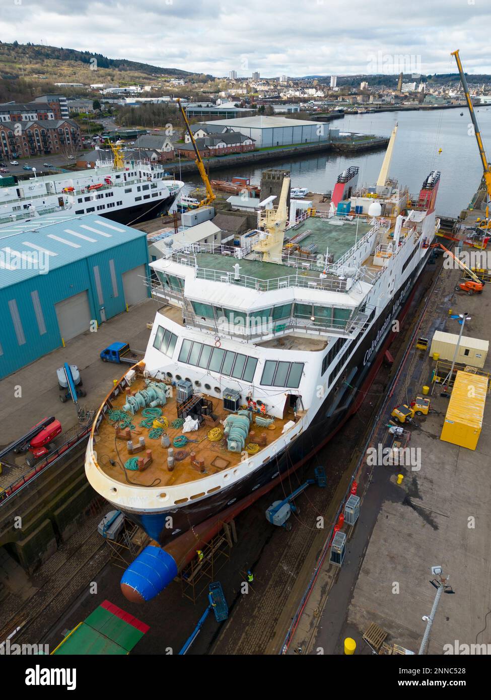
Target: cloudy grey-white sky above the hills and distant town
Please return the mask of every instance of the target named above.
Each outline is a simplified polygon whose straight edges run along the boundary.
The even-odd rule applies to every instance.
[[[1,41],[214,76],[491,73],[489,0],[0,0]]]

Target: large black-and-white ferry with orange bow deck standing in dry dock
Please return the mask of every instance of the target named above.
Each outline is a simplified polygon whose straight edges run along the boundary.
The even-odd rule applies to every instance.
[[[417,195],[389,179],[395,136],[376,186],[340,176],[344,208],[289,228],[285,177],[247,247],[151,263],[162,305],[144,360],[97,412],[85,471],[158,552],[272,488],[357,409],[438,230],[440,174]]]

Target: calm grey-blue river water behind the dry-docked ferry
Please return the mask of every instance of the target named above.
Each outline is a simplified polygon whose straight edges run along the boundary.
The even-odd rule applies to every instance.
[[[460,113],[463,112],[463,116]],[[483,140],[491,143],[491,106],[476,109]],[[390,175],[417,193],[425,177],[433,169],[441,172],[437,214],[457,216],[469,204],[478,188],[483,170],[476,138],[469,127],[469,112],[462,109],[433,111],[382,112],[348,115],[331,122],[341,131],[389,136],[396,121],[399,130],[392,157]],[[487,139],[486,139],[487,137]],[[439,149],[441,153],[438,153]],[[487,151],[488,158],[491,152]],[[309,158],[291,158],[261,165],[212,172],[212,177],[230,180],[234,175],[249,177],[251,184],[261,183],[261,172],[267,168],[289,169],[294,187],[307,187],[311,192],[332,190],[338,174],[350,165],[360,168],[359,183],[373,185],[377,180],[384,151],[345,156],[337,153]],[[186,182],[200,183],[199,176],[184,176]]]

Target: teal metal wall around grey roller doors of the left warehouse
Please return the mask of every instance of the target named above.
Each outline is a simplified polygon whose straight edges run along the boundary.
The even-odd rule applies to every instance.
[[[113,294],[109,261],[113,260],[118,295]],[[146,236],[132,239],[88,258],[75,260],[48,274],[37,274],[18,284],[0,289],[0,378],[15,372],[62,344],[55,304],[87,290],[91,318],[100,323],[100,304],[93,268],[99,267],[106,319],[125,310],[123,272],[146,265]],[[31,293],[37,291],[46,332],[40,332]],[[148,290],[150,295],[150,290]],[[15,300],[25,342],[19,344],[8,302]],[[42,329],[41,329],[42,330]],[[88,329],[89,330],[89,329]]]

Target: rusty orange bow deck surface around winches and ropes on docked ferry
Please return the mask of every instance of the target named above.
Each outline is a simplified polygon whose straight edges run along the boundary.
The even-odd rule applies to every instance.
[[[143,376],[137,375],[137,377],[137,380],[131,387],[132,392],[145,388]],[[207,393],[203,393],[202,395],[212,401],[212,412],[219,421],[224,421],[227,416],[230,416],[230,412],[223,408],[223,401],[221,399],[216,396],[210,396]],[[111,400],[113,409],[122,409],[124,403],[125,395],[122,393]],[[184,484],[198,481],[210,474],[216,474],[217,472],[226,470],[237,465],[241,461],[241,453],[228,451],[226,440],[223,440],[223,438],[216,442],[209,440],[208,433],[213,426],[207,422],[203,422],[198,430],[186,433],[186,437],[195,442],[188,442],[182,448],[173,447],[172,441],[174,438],[178,435],[182,435],[180,428],[171,427],[172,421],[178,417],[177,401],[175,396],[173,396],[167,399],[165,406],[162,406],[162,416],[165,416],[169,421],[169,427],[165,432],[170,437],[170,447],[174,449],[174,457],[176,458],[174,470],[170,472],[167,469],[168,449],[162,447],[160,437],[155,440],[151,439],[148,437],[149,429],[139,425],[144,419],[144,416],[141,415],[141,409],[134,416],[130,414],[127,414],[127,416],[132,419],[134,425],[134,429],[132,429],[134,433],[134,435],[132,435],[133,443],[137,444],[141,436],[145,438],[144,451],[130,454],[127,450],[127,441],[121,439],[116,440],[115,427],[108,419],[102,421],[98,433],[95,435],[95,451],[97,452],[97,463],[99,467],[106,475],[111,477],[111,479],[115,479],[123,484],[127,483],[127,479],[141,486],[173,486]],[[277,437],[282,434],[283,426],[286,422],[291,420],[294,420],[293,412],[285,412],[283,419],[274,419],[274,429],[266,429],[256,426],[255,423],[251,423],[251,430],[254,430],[256,437],[249,432],[246,445],[251,442],[256,442],[261,433],[264,433],[266,444],[260,447],[260,451],[265,449],[265,447],[274,442]],[[216,426],[223,428],[219,422],[216,422]],[[146,449],[151,449],[153,461],[145,470],[139,472],[137,470],[127,470],[124,468],[125,462],[131,457],[145,457]],[[191,455],[192,452],[195,453],[194,458]],[[182,459],[179,459],[179,457],[182,457]],[[200,466],[194,463],[194,461],[200,458],[202,458],[205,463],[204,472],[201,472]],[[116,464],[111,465],[110,460],[114,461]]]

